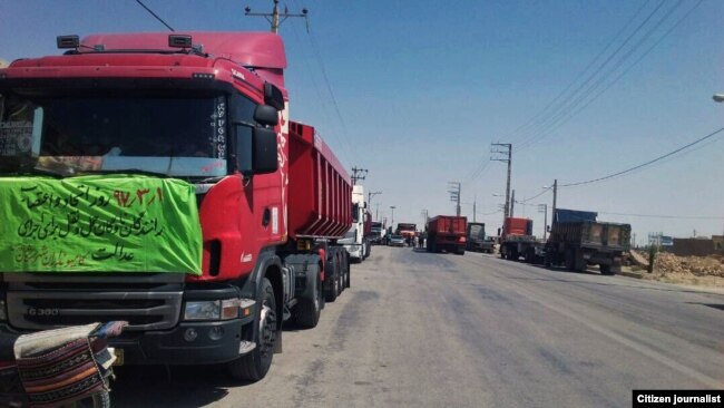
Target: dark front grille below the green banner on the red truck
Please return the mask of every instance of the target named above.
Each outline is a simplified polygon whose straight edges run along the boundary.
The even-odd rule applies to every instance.
[[[127,330],[178,323],[184,275],[8,273],[8,320],[19,330],[125,320]]]

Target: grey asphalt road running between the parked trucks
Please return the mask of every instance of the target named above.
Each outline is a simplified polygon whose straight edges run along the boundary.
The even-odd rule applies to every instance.
[[[126,368],[119,407],[622,407],[632,389],[724,388],[724,294],[491,255],[373,247],[317,328],[251,385]]]

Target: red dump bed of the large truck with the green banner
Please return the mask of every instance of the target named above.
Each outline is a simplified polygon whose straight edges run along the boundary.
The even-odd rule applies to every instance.
[[[342,237],[352,225],[352,183],[314,127],[290,122],[288,231]]]

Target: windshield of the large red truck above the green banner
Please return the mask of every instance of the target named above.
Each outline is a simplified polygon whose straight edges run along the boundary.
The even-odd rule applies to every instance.
[[[222,96],[0,95],[0,174],[226,174]]]

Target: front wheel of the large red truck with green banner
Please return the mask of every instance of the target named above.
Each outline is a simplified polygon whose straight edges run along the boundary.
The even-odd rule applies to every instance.
[[[278,328],[276,326],[276,299],[268,279],[262,280],[256,295],[258,328],[254,334],[256,348],[246,356],[228,363],[228,372],[235,380],[258,381],[268,372],[274,356]]]

